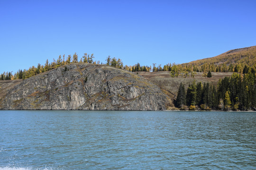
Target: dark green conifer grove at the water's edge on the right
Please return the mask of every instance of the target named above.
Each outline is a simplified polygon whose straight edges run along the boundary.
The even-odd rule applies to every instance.
[[[185,90],[181,83],[175,106],[181,110],[252,110],[256,108],[256,74],[233,73],[219,79],[217,88],[192,82]]]

